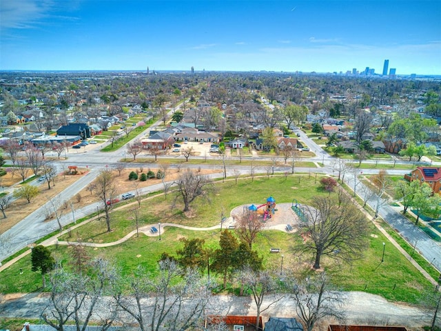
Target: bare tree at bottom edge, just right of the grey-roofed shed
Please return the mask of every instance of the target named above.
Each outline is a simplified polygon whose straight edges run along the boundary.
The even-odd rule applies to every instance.
[[[312,331],[314,325],[326,317],[345,321],[345,293],[331,287],[325,272],[313,274],[303,281],[287,279],[288,290],[294,299],[296,312],[305,330]]]

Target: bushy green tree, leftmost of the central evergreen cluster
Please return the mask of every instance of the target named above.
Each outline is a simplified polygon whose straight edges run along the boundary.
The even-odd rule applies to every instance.
[[[207,250],[203,247],[205,240],[182,238],[179,241],[184,243],[184,247],[176,251],[179,265],[183,268],[203,270],[207,265]]]

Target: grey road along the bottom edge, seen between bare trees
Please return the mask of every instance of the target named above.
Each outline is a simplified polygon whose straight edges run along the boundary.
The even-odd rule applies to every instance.
[[[346,312],[348,323],[404,325],[408,328],[416,328],[428,325],[431,321],[430,317],[418,308],[391,303],[378,295],[365,292],[345,292],[345,295],[347,301],[341,309]],[[265,297],[262,309],[276,299],[278,299],[276,295]],[[8,300],[0,305],[0,317],[39,319],[41,311],[48,305],[48,302],[48,294],[26,294],[19,299]],[[147,305],[147,300],[143,301],[143,304]],[[207,314],[252,316],[256,314],[256,305],[252,297],[216,295],[207,308]],[[262,316],[264,319],[271,316],[296,316],[294,301],[289,297],[284,297],[265,310]]]

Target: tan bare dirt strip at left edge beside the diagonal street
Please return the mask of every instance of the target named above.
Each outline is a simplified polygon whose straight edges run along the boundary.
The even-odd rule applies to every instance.
[[[31,212],[34,212],[37,210],[41,205],[48,202],[49,199],[59,194],[61,191],[63,191],[65,188],[67,188],[69,185],[72,185],[75,181],[81,179],[81,177],[85,174],[86,169],[79,169],[79,174],[59,174],[55,178],[55,186],[50,187],[50,190],[48,190],[48,182],[42,181],[40,185],[38,185],[38,188],[40,190],[40,194],[32,199],[30,203],[26,201],[25,199],[17,199],[14,201],[10,208],[6,210],[6,219],[1,219],[0,222],[0,234],[3,232],[6,232],[6,230],[12,228],[15,224],[19,223],[23,219],[23,216],[30,214]],[[1,177],[2,179],[4,177],[8,176],[6,174],[5,176]],[[10,180],[11,182],[18,179],[20,182],[20,179],[17,177],[17,174],[11,178],[8,179],[6,177],[6,181],[1,181],[2,185],[6,185],[5,183]],[[15,182],[16,185],[14,185],[14,188],[19,188],[21,185],[17,184],[17,181]],[[6,188],[6,191],[12,192],[12,188]],[[70,211],[70,210],[69,210]]]

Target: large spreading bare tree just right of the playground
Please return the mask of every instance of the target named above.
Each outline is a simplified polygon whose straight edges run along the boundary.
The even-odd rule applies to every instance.
[[[320,269],[323,255],[351,262],[366,247],[367,221],[349,198],[340,206],[331,197],[316,197],[303,209],[307,222],[302,228],[311,239],[298,243],[295,251],[314,253],[314,269]]]

